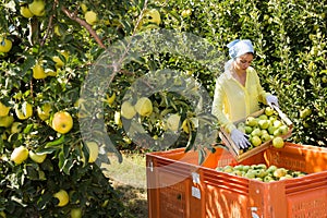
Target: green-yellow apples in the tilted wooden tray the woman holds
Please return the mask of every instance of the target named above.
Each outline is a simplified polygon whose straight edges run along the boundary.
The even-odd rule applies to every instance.
[[[283,135],[289,132],[289,126],[279,118],[278,113],[270,107],[266,107],[258,117],[247,117],[245,121],[237,124],[238,129],[249,136],[251,146],[242,152],[246,152],[272,141],[276,148],[283,147]]]

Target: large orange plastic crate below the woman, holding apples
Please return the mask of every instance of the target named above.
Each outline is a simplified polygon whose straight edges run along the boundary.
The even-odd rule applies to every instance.
[[[149,153],[149,218],[326,218],[327,149],[286,143],[242,162],[222,148],[202,166],[197,153],[184,148]],[[307,175],[261,182],[216,171],[226,165],[276,165]]]

